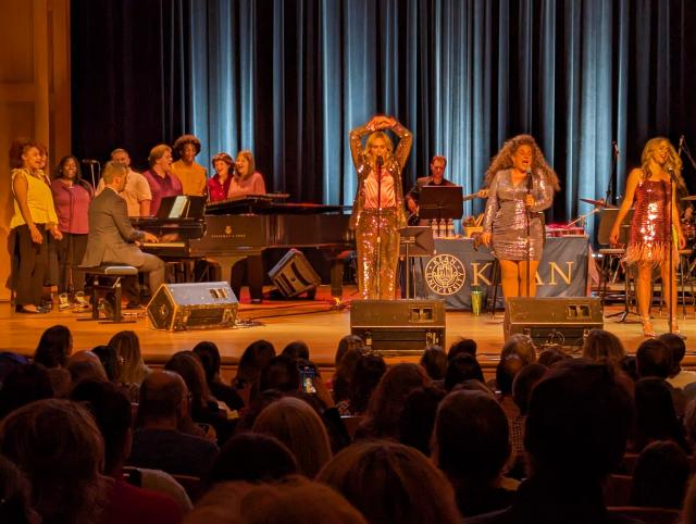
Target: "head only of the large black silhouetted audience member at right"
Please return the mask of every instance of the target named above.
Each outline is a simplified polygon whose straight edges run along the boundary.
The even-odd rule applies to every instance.
[[[623,458],[633,408],[607,364],[571,360],[532,390],[524,447],[534,474],[599,482]]]

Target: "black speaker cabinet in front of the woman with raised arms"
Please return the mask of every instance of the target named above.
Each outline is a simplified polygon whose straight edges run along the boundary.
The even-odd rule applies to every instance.
[[[445,345],[445,302],[442,300],[353,300],[350,333],[385,353],[422,353]]]

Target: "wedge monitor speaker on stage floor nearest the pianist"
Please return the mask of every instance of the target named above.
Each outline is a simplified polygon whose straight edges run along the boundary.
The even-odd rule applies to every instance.
[[[239,303],[226,282],[162,284],[148,304],[156,329],[219,329],[235,325]]]

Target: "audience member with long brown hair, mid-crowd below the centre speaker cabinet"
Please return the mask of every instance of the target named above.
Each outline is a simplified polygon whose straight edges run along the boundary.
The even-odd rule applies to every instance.
[[[413,389],[428,385],[430,378],[420,365],[399,363],[389,367],[372,394],[356,436],[398,440],[406,398]]]

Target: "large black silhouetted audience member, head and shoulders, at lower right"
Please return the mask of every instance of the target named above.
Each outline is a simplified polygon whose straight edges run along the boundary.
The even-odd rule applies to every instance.
[[[622,460],[631,421],[631,397],[610,365],[574,359],[549,370],[529,406],[524,446],[530,478],[510,508],[465,522],[613,522],[602,484]]]

